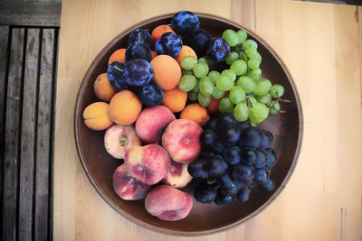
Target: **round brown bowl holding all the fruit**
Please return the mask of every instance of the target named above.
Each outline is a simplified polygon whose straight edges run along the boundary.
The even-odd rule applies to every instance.
[[[225,29],[245,29],[243,26],[227,19],[211,14],[198,14],[200,27],[213,36],[221,36]],[[190,214],[182,220],[167,222],[152,217],[144,207],[144,200],[127,201],[119,199],[112,188],[113,171],[121,163],[113,159],[104,148],[104,131],[92,131],[83,123],[82,112],[85,107],[98,101],[93,91],[93,82],[100,73],[106,72],[110,54],[119,48],[127,46],[129,33],[137,28],[152,30],[160,24],[170,23],[173,14],[153,17],[137,23],[113,39],[91,63],[90,69],[81,82],[75,104],[74,135],[81,165],[100,196],[123,217],[160,233],[176,236],[200,236],[224,231],[235,227],[265,209],[284,189],[291,177],[298,156],[302,140],[303,117],[300,106],[300,97],[291,73],[277,55],[261,37],[248,31],[248,38],[258,43],[258,51],[262,55],[262,77],[271,79],[273,83],[281,83],[285,88],[283,98],[291,103],[281,103],[285,114],[269,116],[261,127],[275,135],[272,147],[275,149],[278,162],[271,169],[271,177],[275,180],[275,188],[266,192],[254,187],[251,198],[245,202],[233,202],[225,206],[202,204],[194,200],[194,207]]]

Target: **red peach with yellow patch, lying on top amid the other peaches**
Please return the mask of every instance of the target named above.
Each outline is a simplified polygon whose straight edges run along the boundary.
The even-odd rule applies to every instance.
[[[169,170],[169,156],[162,146],[132,146],[125,156],[129,174],[148,185],[164,179]]]

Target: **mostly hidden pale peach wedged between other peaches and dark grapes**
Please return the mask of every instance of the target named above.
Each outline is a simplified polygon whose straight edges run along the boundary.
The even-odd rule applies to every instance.
[[[163,183],[175,187],[176,189],[183,189],[193,177],[187,171],[188,164],[175,162],[171,159],[170,169],[166,178],[162,180]]]

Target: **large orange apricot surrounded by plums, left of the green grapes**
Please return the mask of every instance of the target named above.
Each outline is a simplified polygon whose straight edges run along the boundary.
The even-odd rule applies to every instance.
[[[161,54],[151,60],[150,64],[155,71],[153,80],[160,88],[176,88],[181,79],[181,69],[174,58]]]

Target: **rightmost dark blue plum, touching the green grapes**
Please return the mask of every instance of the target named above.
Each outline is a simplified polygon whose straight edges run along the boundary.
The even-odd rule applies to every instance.
[[[207,46],[207,56],[215,62],[224,61],[230,53],[230,46],[223,38],[212,39]]]

